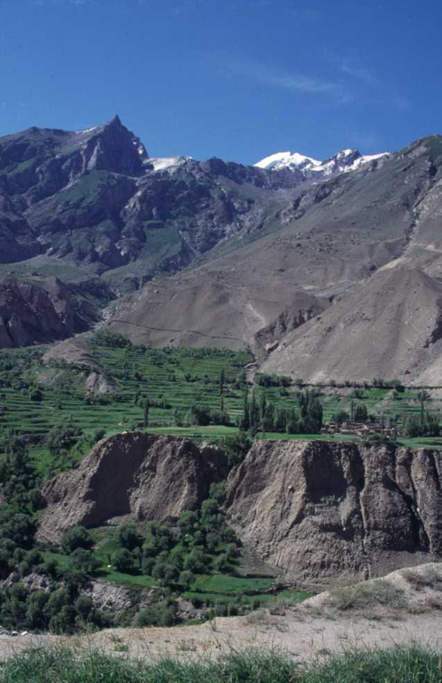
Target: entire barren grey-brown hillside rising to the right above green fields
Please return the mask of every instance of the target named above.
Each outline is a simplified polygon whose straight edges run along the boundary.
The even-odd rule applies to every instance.
[[[121,301],[111,329],[154,345],[248,344],[260,360],[263,341],[285,337],[264,370],[437,384],[441,160],[432,136],[352,174],[284,190],[263,236],[227,240],[198,268],[149,283]],[[323,313],[334,297],[342,301]]]

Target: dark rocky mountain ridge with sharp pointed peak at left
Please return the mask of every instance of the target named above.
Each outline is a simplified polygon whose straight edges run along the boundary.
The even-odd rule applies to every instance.
[[[342,154],[325,163],[336,166],[331,174],[363,158]],[[273,193],[321,177],[310,179],[302,165],[276,173],[217,158],[151,160],[118,116],[85,131],[34,127],[0,138],[0,262],[45,254],[97,274],[111,271],[115,282],[128,264],[146,256],[155,262],[160,241],[169,247],[160,254],[165,258],[144,263],[143,277],[149,265],[179,270],[219,242],[255,230]],[[126,281],[126,288],[138,285]]]

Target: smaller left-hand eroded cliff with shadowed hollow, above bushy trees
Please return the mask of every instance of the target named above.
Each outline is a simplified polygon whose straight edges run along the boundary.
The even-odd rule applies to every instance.
[[[94,527],[121,516],[174,520],[201,504],[210,484],[226,477],[226,465],[216,446],[176,436],[115,434],[100,441],[78,469],[46,484],[37,538],[56,543],[71,526]]]

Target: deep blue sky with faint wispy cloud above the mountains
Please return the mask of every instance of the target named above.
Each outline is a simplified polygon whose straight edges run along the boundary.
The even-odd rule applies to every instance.
[[[151,156],[442,133],[437,0],[0,0],[0,135],[121,120]]]

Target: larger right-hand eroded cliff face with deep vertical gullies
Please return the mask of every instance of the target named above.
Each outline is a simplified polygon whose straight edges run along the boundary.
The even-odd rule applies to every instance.
[[[371,577],[442,556],[442,452],[258,441],[230,473],[241,540],[295,579]]]

